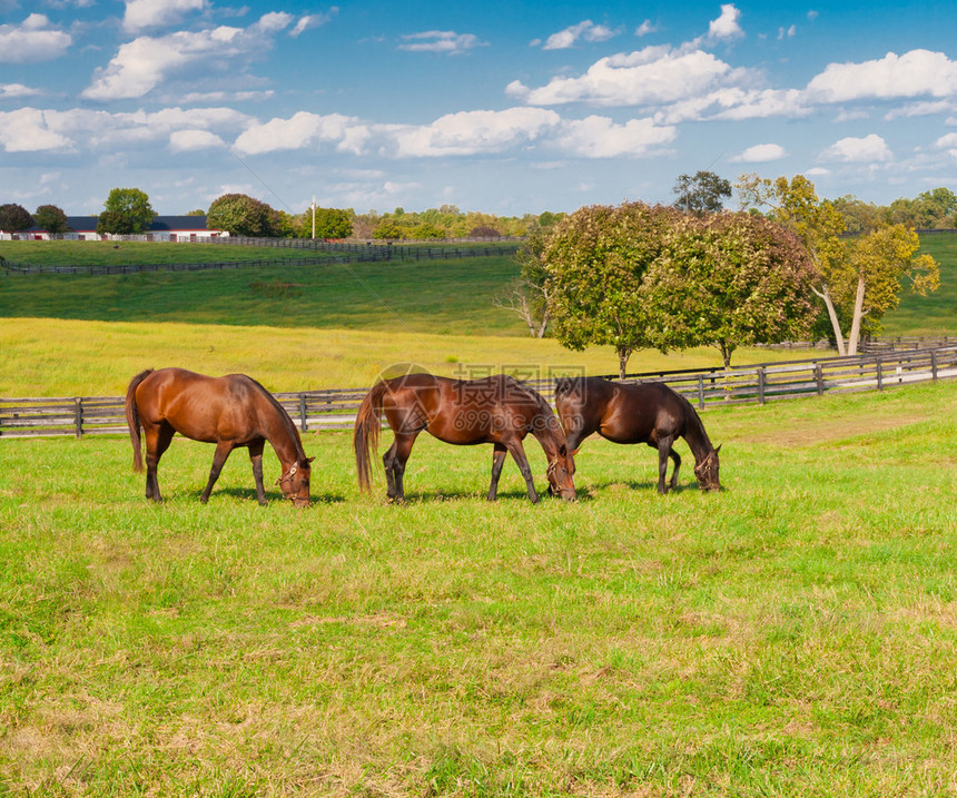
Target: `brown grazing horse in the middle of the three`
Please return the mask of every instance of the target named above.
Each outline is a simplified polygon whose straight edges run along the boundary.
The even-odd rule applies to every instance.
[[[529,499],[537,502],[532,470],[522,446],[531,432],[549,459],[550,492],[569,501],[575,499],[574,460],[569,454],[559,420],[540,394],[512,377],[451,380],[406,374],[377,383],[359,406],[353,436],[363,490],[369,487],[369,462],[372,451],[378,447],[383,414],[395,435],[382,459],[389,499],[399,502],[405,499],[402,481],[405,463],[423,430],[445,443],[466,446],[491,443],[494,446],[489,501],[495,500],[502,465],[505,455],[511,453],[525,479]]]

